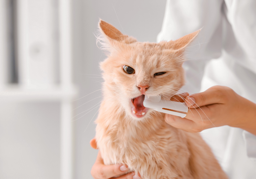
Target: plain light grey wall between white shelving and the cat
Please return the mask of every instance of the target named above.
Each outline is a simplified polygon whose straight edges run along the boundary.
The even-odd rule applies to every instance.
[[[97,30],[99,18],[114,25],[121,32],[125,32],[127,35],[137,38],[139,41],[155,42],[157,34],[161,30],[165,3],[166,0],[74,1],[75,80],[80,86],[80,97],[95,90],[101,89],[100,80],[102,79],[90,78],[100,77],[97,76],[100,74],[98,64],[100,61],[105,59],[104,54],[102,54],[102,52],[96,46],[96,38],[93,35],[93,33]],[[119,24],[117,17],[122,27]],[[78,100],[76,106],[79,106],[98,96],[101,96],[100,91]],[[82,107],[79,107],[77,110],[75,110],[75,113],[78,114],[89,109],[100,100],[101,98],[98,98]],[[92,117],[97,110],[98,107],[75,121],[75,177],[78,179],[92,178],[90,175],[90,170],[95,162],[97,150],[90,147],[89,141],[95,135],[96,125],[93,123],[93,121],[96,119],[97,114],[93,119]],[[92,121],[89,124],[91,119]],[[88,124],[89,127],[85,131]]]

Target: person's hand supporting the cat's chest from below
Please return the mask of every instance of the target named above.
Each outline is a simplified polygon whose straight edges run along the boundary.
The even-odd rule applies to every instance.
[[[90,141],[92,148],[97,149],[97,143],[95,139]],[[114,164],[114,165],[104,165],[103,159],[101,158],[100,151],[98,152],[96,162],[92,166],[91,175],[95,179],[109,179],[115,176],[122,175],[128,171],[127,165]],[[115,179],[139,179],[139,176],[135,176],[135,173],[128,173],[123,176],[119,176]]]

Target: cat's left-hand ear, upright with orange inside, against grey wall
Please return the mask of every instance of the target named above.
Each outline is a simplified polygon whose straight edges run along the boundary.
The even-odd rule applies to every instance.
[[[131,44],[137,42],[136,38],[129,37],[118,31],[113,25],[100,19],[99,29],[104,38],[100,40],[112,47],[116,47],[118,43]]]

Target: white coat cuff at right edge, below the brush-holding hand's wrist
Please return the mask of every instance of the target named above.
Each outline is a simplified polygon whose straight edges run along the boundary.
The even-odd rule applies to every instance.
[[[256,135],[243,131],[245,148],[249,159],[256,164]]]

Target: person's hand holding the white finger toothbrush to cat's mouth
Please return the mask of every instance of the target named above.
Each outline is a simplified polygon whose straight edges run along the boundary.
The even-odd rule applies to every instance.
[[[183,93],[171,100],[186,102],[189,107],[185,118],[166,114],[165,121],[188,132],[229,125],[256,134],[256,104],[239,96],[226,86],[213,86],[202,93]]]

